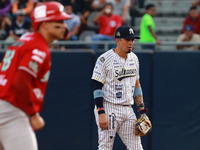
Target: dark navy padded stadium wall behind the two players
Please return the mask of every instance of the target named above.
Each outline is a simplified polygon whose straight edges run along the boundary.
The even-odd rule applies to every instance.
[[[97,149],[90,78],[100,54],[52,52],[51,76],[41,114],[46,126],[36,133],[40,150]],[[142,137],[144,150],[200,149],[200,53],[136,54],[144,100],[153,123],[152,132]],[[125,149],[116,137],[114,150]]]

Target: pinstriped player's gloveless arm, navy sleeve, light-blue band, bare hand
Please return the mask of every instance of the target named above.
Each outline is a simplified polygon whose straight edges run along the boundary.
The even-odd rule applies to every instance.
[[[105,115],[104,107],[103,107],[103,92],[102,87],[103,83],[98,82],[96,80],[92,80],[93,82],[93,95],[95,105],[97,107],[97,111],[99,114],[99,126],[102,130],[108,129],[108,119]]]

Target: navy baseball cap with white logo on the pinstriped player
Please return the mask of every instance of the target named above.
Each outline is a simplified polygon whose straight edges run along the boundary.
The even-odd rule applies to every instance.
[[[115,31],[115,38],[116,39],[140,39],[139,36],[134,35],[134,31],[129,26],[120,26]]]

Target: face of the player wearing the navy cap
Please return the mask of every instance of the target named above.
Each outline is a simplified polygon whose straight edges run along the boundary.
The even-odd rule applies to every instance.
[[[134,39],[120,39],[119,47],[125,53],[130,53],[134,45]]]

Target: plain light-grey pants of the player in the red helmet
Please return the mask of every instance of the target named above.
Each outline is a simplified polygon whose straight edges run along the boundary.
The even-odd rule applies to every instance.
[[[21,109],[0,100],[0,150],[37,150],[35,133]]]

